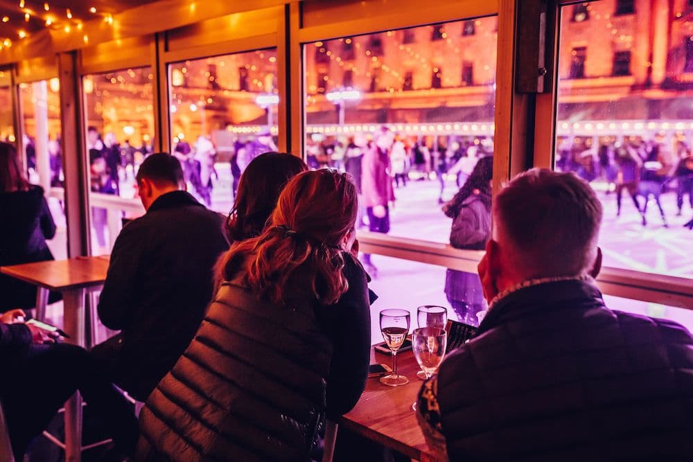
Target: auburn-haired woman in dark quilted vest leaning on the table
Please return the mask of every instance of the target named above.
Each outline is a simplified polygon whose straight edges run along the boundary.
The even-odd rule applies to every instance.
[[[367,377],[357,208],[347,175],[303,172],[263,233],[231,248],[195,339],[140,414],[140,460],[310,460]]]

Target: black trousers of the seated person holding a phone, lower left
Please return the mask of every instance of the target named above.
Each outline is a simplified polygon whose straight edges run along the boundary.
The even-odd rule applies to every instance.
[[[105,380],[84,348],[32,345],[2,355],[0,401],[17,461],[76,390],[103,420],[119,450],[132,454],[139,434],[132,406]]]

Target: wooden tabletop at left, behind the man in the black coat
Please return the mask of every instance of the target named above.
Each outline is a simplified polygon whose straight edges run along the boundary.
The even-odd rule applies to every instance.
[[[23,265],[0,267],[2,274],[46,287],[49,290],[80,289],[103,284],[108,270],[108,257],[76,257]]]

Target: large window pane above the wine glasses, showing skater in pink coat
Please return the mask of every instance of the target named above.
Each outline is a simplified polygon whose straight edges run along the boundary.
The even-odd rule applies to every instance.
[[[354,177],[364,229],[449,242],[441,206],[493,154],[496,24],[484,17],[304,47],[306,161]],[[365,155],[383,127],[391,141],[379,157]],[[387,215],[373,220],[378,206]]]

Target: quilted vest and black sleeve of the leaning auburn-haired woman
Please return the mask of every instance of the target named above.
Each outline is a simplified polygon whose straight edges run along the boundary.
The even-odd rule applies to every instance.
[[[224,283],[140,414],[141,461],[307,461],[327,414],[356,404],[370,353],[366,274],[331,306],[283,306]]]

